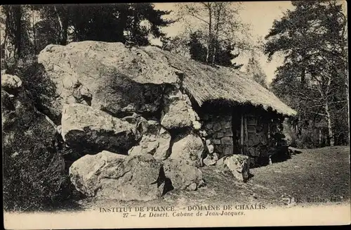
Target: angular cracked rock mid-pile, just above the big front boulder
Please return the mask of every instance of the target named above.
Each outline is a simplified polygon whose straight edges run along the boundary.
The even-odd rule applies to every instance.
[[[147,121],[147,129],[138,146],[133,146],[128,155],[151,154],[155,159],[165,160],[169,154],[169,144],[171,142],[171,135],[169,132],[161,127],[161,125],[154,121]]]

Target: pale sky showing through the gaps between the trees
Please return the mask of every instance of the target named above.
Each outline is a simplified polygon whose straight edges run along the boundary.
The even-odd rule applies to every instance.
[[[154,6],[160,10],[177,10],[174,3],[155,3]],[[243,23],[251,25],[251,34],[253,35],[254,41],[268,34],[274,19],[279,20],[282,18],[285,11],[293,9],[290,1],[244,1],[242,7],[239,16]],[[170,17],[172,17],[172,15],[173,13]],[[179,23],[175,23],[163,29],[168,36],[174,36],[181,30],[182,26]],[[157,41],[154,42],[157,44]],[[241,53],[241,55],[235,59],[236,63],[244,64],[241,71],[245,70],[249,56],[249,53]],[[263,71],[267,75],[267,82],[272,82],[274,71],[279,65],[282,65],[283,58],[274,56],[274,58],[268,62],[267,56],[263,55],[263,53],[257,53],[257,56]]]

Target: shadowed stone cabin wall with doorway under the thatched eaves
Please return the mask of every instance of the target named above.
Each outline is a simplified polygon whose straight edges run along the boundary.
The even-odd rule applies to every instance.
[[[251,158],[251,166],[260,165],[267,156],[270,143],[270,132],[274,132],[279,122],[273,113],[260,109],[223,110],[216,113],[216,109],[207,109],[200,113],[202,123],[201,132],[206,140],[209,154],[218,153],[219,158],[224,155],[241,154],[240,127],[233,128],[233,121],[241,123],[241,113],[244,115],[244,154]],[[232,116],[232,111],[238,111]],[[235,113],[235,112],[234,112]],[[235,121],[234,121],[235,123]],[[213,151],[212,151],[213,146]]]

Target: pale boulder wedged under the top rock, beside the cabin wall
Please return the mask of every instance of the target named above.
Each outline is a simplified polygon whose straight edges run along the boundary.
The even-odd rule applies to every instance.
[[[199,116],[192,109],[189,97],[176,87],[168,87],[164,95],[164,109],[161,112],[161,124],[166,129],[193,127],[200,129]]]

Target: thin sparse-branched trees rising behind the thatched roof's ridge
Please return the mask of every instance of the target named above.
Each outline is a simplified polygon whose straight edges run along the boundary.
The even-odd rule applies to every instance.
[[[248,49],[248,26],[238,18],[239,5],[225,2],[178,4],[179,21],[185,31],[168,39],[164,47],[209,65],[241,68],[232,63],[239,56],[238,50]],[[180,48],[181,47],[181,48]],[[180,50],[180,51],[179,51]],[[233,53],[236,51],[237,53]]]

